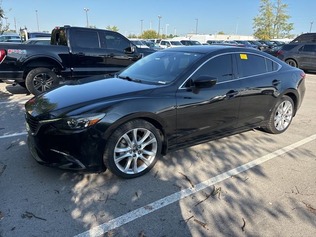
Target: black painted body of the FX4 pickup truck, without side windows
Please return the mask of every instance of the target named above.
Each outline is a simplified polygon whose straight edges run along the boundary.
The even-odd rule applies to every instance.
[[[76,43],[76,31],[96,32],[99,39],[102,39],[103,34],[116,36],[129,44],[130,50],[123,52],[109,48],[102,40],[98,48],[79,47]],[[0,78],[15,79],[17,82],[25,81],[27,74],[39,67],[53,69],[66,80],[112,74],[155,52],[138,49],[117,32],[81,27],[54,29],[51,45],[3,43],[0,44],[0,49],[6,51],[5,58],[0,62]]]

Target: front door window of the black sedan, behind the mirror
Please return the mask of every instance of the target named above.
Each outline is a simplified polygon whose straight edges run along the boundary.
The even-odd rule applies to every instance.
[[[205,63],[192,77],[193,81],[200,75],[208,75],[217,78],[217,82],[233,79],[232,54],[215,57]]]

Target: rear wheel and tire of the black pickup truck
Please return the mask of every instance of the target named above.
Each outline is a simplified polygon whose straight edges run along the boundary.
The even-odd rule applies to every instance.
[[[29,72],[25,80],[26,88],[33,94],[38,95],[43,91],[59,84],[57,75],[48,68],[36,68]]]

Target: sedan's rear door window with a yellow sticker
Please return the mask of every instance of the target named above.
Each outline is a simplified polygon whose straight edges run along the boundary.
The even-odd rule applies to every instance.
[[[266,73],[265,58],[254,54],[238,53],[238,71],[239,77],[251,77]]]

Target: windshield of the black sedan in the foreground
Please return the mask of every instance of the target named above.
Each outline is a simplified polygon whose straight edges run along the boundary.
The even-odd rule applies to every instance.
[[[119,77],[166,84],[175,80],[200,58],[198,53],[159,51],[138,60],[119,73]]]

